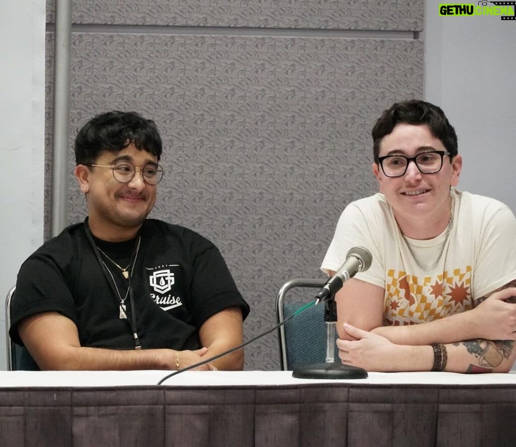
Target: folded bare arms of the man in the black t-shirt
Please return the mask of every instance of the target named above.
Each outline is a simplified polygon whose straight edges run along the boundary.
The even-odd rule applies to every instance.
[[[22,320],[18,332],[42,370],[175,370],[216,356],[243,342],[240,308],[224,309],[209,317],[199,329],[201,349],[116,350],[80,346],[77,326],[57,312],[44,312]],[[241,370],[242,349],[198,370]]]

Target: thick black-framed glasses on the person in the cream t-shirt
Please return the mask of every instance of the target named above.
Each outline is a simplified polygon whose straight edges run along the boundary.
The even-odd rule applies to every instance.
[[[415,157],[405,155],[385,155],[378,157],[378,164],[387,177],[400,177],[407,172],[410,162],[414,162],[424,174],[439,172],[443,167],[443,157],[449,155],[448,151],[427,151],[417,154]]]

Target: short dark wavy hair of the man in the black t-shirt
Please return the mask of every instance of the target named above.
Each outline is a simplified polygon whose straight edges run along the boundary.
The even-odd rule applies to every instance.
[[[89,120],[75,138],[75,163],[95,163],[102,151],[120,152],[133,143],[139,150],[146,150],[159,160],[162,139],[152,120],[134,111],[110,111]]]

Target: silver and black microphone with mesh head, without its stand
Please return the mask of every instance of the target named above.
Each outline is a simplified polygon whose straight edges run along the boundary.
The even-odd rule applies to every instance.
[[[342,289],[343,284],[355,276],[358,272],[365,272],[373,261],[371,252],[364,247],[350,248],[346,254],[346,260],[335,274],[322,286],[322,289],[315,296],[315,304],[319,301],[329,299]]]

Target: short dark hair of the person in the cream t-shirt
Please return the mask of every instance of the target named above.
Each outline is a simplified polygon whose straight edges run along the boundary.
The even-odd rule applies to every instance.
[[[450,159],[457,155],[457,134],[443,110],[429,102],[410,100],[394,103],[391,108],[384,110],[376,121],[372,131],[375,163],[378,163],[383,137],[389,135],[399,123],[428,125],[432,135],[439,138],[450,153]]]

